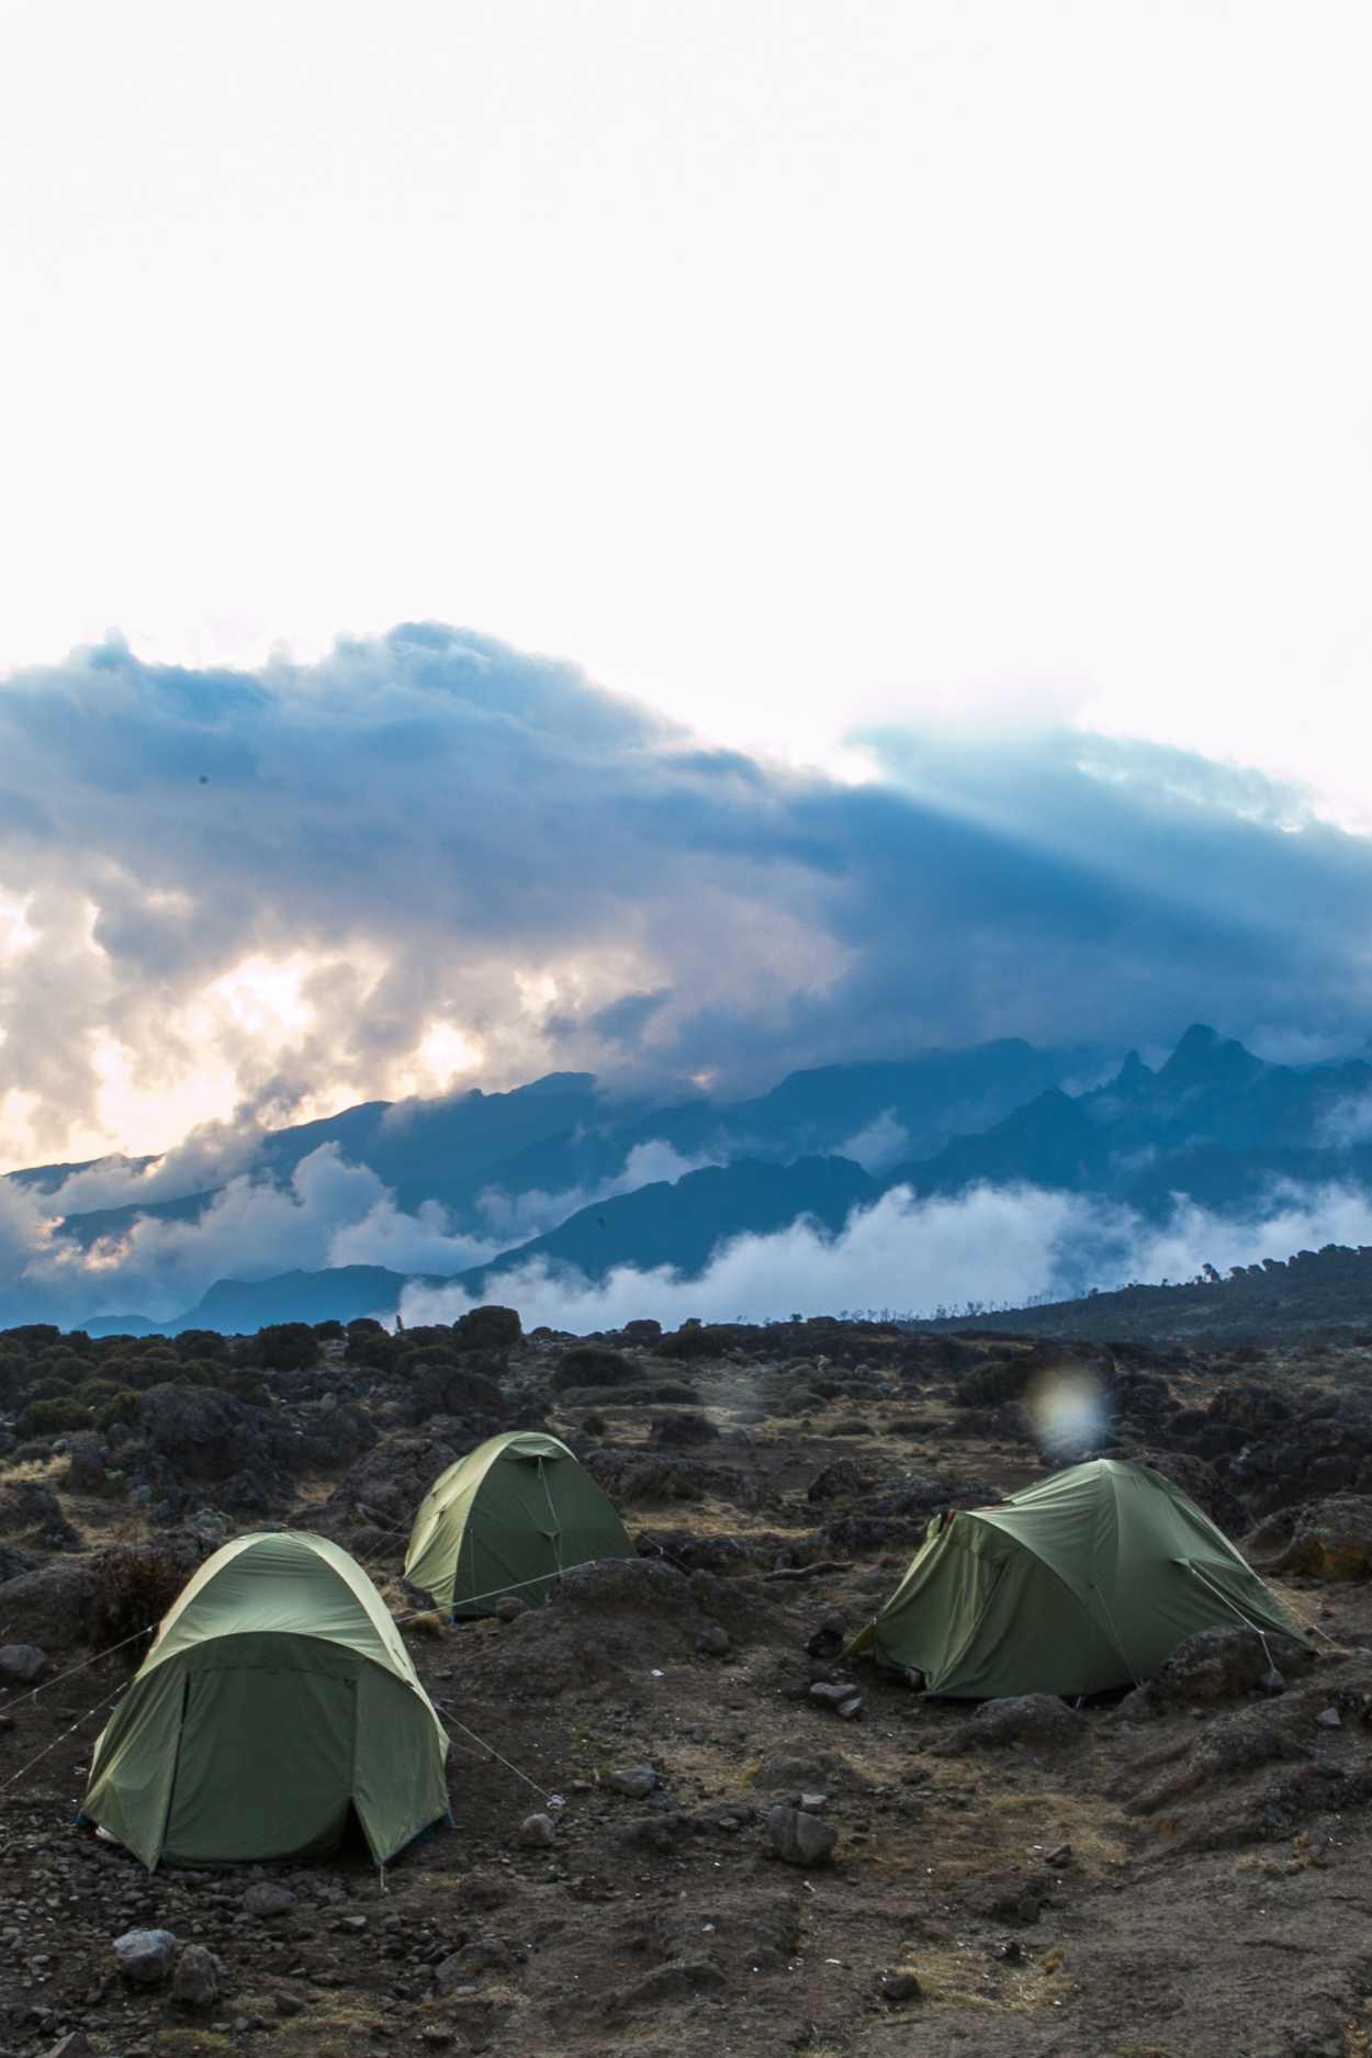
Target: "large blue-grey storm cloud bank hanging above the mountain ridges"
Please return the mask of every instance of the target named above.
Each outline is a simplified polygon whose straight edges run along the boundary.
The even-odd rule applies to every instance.
[[[1366,1023],[1372,852],[1298,796],[1080,737],[868,747],[878,784],[780,772],[434,624],[253,675],[117,642],[19,673],[0,891],[37,941],[0,959],[4,1085],[60,1148],[101,1033],[146,1080],[191,1068],[189,1002],[292,953],[288,1056],[216,1041],[278,1107],[391,1091],[438,1019],[496,1085]]]

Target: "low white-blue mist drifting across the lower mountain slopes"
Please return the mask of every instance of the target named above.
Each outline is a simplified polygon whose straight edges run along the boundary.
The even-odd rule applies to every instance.
[[[167,1321],[187,1313],[220,1278],[263,1280],[331,1266],[448,1278],[492,1264],[520,1235],[576,1206],[687,1169],[671,1146],[644,1144],[597,1192],[492,1196],[490,1233],[471,1235],[457,1231],[436,1202],[401,1208],[374,1171],[325,1144],[286,1185],[239,1173],[197,1220],[142,1216],[91,1249],[60,1233],[51,1198],[0,1181],[0,1323],[76,1327],[99,1315]],[[932,1200],[893,1187],[854,1212],[837,1237],[806,1220],[778,1235],[734,1237],[716,1249],[699,1278],[621,1266],[592,1282],[533,1262],[488,1276],[479,1299],[516,1307],[527,1327],[576,1332],[642,1315],[666,1325],[689,1315],[765,1321],[866,1307],[932,1315],[1066,1299],[1131,1280],[1189,1280],[1201,1266],[1224,1272],[1325,1243],[1372,1243],[1368,1192],[1273,1185],[1247,1214],[1216,1214],[1179,1196],[1156,1220],[1115,1202],[1028,1185],[973,1187]],[[457,1282],[416,1280],[405,1288],[401,1313],[407,1321],[453,1321],[471,1305],[473,1297]]]

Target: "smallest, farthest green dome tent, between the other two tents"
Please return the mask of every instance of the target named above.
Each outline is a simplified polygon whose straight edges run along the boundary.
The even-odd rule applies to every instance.
[[[453,1616],[492,1616],[502,1593],[545,1601],[574,1564],[634,1556],[619,1515],[566,1443],[510,1430],[434,1480],[409,1533],[405,1578]]]

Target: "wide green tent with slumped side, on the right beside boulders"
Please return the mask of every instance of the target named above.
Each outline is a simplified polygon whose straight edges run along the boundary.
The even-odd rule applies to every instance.
[[[1158,1471],[1113,1457],[1000,1509],[940,1515],[850,1644],[930,1694],[1098,1694],[1156,1671],[1183,1636],[1249,1624],[1308,1642],[1228,1537]]]

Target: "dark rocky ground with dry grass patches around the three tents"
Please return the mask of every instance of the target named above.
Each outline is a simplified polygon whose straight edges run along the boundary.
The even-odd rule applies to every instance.
[[[321,1338],[251,1377],[237,1346],[222,1387],[160,1362],[56,1436],[19,1430],[58,1346],[16,1346],[0,2054],[1372,2050],[1368,1352],[864,1323],[469,1344],[428,1332],[405,1371]],[[411,1616],[418,1494],[531,1422],[578,1449],[642,1556],[508,1622],[407,1622],[453,1733],[455,1830],[378,1881],[356,1852],[148,1877],[74,1825],[128,1677],[123,1655],[86,1663],[93,1636],[136,1638],[216,1541],[274,1521],[335,1535]],[[1275,1653],[1281,1692],[1238,1628],[1084,1708],[973,1710],[843,1669],[841,1632],[932,1511],[1088,1447],[1148,1455],[1249,1539],[1316,1630],[1312,1661]],[[173,1941],[121,1965],[132,1930]]]

